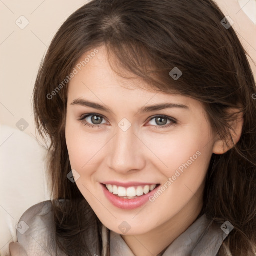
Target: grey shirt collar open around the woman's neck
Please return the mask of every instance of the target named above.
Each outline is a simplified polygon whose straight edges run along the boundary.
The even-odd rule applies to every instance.
[[[216,256],[228,234],[205,214],[196,219],[158,256]],[[121,235],[110,230],[111,256],[135,256]]]

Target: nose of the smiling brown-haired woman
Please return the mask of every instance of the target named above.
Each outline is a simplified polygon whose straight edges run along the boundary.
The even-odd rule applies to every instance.
[[[145,145],[134,133],[132,125],[123,131],[117,126],[116,134],[108,143],[107,165],[119,173],[131,173],[144,168]]]

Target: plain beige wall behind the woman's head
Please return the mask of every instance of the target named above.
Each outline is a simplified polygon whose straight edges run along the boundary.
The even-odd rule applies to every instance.
[[[15,128],[18,123],[24,132],[35,136],[31,95],[41,58],[64,20],[86,2],[0,0],[0,123]],[[239,0],[239,5],[236,0],[216,2],[235,20],[233,27],[256,61],[256,0]],[[255,66],[253,70],[255,74]]]

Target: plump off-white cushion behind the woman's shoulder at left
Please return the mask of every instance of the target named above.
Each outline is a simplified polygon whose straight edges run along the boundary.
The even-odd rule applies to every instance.
[[[19,129],[0,124],[0,253],[9,255],[16,225],[32,205],[50,199],[46,149]]]

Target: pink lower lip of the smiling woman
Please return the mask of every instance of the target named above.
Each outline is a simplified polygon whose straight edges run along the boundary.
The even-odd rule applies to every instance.
[[[148,200],[149,197],[154,194],[155,189],[159,186],[157,185],[152,191],[150,191],[148,194],[144,194],[141,195],[137,198],[134,199],[125,199],[125,198],[121,198],[118,197],[115,194],[112,194],[108,191],[108,189],[105,187],[104,184],[101,184],[103,188],[103,192],[106,196],[106,198],[116,207],[120,208],[120,209],[125,209],[125,210],[132,210],[132,209],[136,209],[140,206],[142,206],[143,204],[145,204]]]

